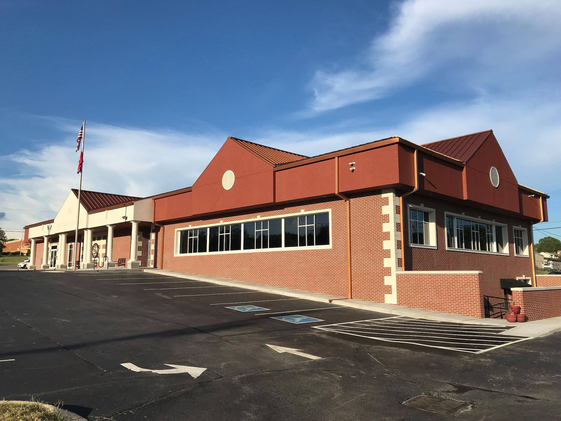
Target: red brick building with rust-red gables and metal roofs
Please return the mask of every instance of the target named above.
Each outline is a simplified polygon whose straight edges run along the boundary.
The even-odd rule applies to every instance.
[[[502,295],[500,278],[535,285],[532,224],[547,220],[549,197],[518,184],[490,130],[315,157],[228,138],[191,187],[144,199],[84,193],[85,241],[103,252],[111,237],[111,262],[474,317],[484,295]],[[62,213],[75,208],[69,199]],[[68,262],[52,258],[74,235],[57,218],[26,227],[36,267]],[[53,224],[58,239],[45,232]]]

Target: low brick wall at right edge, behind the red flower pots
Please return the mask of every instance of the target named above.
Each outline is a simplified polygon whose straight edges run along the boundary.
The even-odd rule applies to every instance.
[[[528,321],[561,316],[561,287],[556,290],[512,290],[514,304],[522,307]]]

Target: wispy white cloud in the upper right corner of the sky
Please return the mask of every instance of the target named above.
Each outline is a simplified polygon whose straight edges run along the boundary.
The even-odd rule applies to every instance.
[[[560,19],[555,0],[404,1],[355,65],[316,73],[311,111],[385,97],[427,77],[473,94],[542,83],[557,75]]]

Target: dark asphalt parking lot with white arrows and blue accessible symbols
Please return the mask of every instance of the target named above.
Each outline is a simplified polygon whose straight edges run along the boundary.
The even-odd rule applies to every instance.
[[[4,271],[0,310],[0,396],[62,400],[88,419],[561,413],[561,335],[527,340],[128,271]],[[463,405],[445,415],[402,404],[419,395]]]

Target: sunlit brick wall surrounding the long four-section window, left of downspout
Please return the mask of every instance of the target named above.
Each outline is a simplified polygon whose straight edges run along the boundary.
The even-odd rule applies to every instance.
[[[256,218],[258,215],[268,217],[297,213],[302,209],[316,211],[328,208],[332,209],[331,249],[250,251],[182,257],[173,255],[175,228],[189,225],[200,226],[220,221],[224,221],[224,223],[240,221]],[[158,250],[162,250],[162,240],[163,269],[323,292],[324,294],[347,295],[346,205],[341,199],[311,201],[286,207],[270,207],[250,213],[230,213],[220,215],[218,218],[172,223],[165,225],[163,236],[158,235]],[[373,245],[371,245],[371,249],[373,250]],[[157,259],[159,265],[158,255]]]

